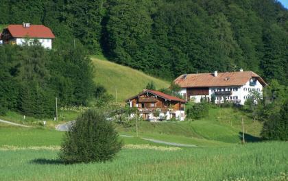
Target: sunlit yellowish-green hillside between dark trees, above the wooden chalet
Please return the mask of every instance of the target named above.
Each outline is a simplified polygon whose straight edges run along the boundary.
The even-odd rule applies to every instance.
[[[154,82],[156,88],[167,88],[169,82],[146,75],[113,62],[99,59],[99,56],[92,56],[95,65],[95,82],[103,85],[108,93],[115,96],[117,89],[117,101],[125,99],[141,92],[148,82]]]

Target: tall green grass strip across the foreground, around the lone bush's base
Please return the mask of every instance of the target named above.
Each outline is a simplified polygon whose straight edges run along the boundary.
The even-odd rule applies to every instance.
[[[112,162],[62,165],[57,151],[0,151],[1,180],[287,180],[287,143],[173,151],[123,149]]]

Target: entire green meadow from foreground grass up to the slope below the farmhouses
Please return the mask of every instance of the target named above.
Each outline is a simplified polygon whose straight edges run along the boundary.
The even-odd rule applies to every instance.
[[[225,114],[224,114],[225,113]],[[226,117],[230,114],[230,118]],[[214,119],[213,119],[214,117]],[[241,123],[252,140],[241,144]],[[232,120],[231,120],[232,118]],[[231,124],[232,122],[232,124]],[[288,180],[288,144],[259,142],[261,123],[233,108],[215,108],[200,120],[115,125],[124,146],[110,162],[64,165],[58,160],[64,132],[0,123],[1,180]],[[248,129],[249,128],[249,129]],[[252,129],[253,128],[253,129]],[[160,141],[197,145],[172,147]],[[258,138],[258,139],[256,139]]]

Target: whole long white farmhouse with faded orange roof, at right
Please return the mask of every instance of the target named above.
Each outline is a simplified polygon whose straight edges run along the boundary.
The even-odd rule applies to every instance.
[[[224,101],[243,105],[253,91],[262,95],[266,82],[252,71],[218,73],[184,74],[174,80],[182,89],[180,95],[187,101],[211,101],[216,104]]]

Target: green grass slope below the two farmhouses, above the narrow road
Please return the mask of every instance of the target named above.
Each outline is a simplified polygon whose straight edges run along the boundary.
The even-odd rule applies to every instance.
[[[142,136],[195,145],[207,145],[206,141],[241,143],[241,119],[244,121],[246,141],[259,141],[262,123],[253,121],[244,112],[234,108],[211,108],[208,117],[200,120],[178,122],[139,123]],[[133,132],[134,128],[119,128]],[[209,144],[208,144],[209,145]]]

